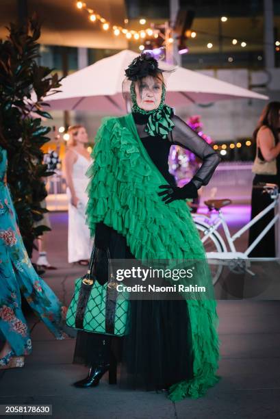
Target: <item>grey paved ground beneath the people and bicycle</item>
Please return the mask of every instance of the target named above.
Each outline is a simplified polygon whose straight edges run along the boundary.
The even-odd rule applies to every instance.
[[[84,270],[66,262],[66,215],[53,214],[52,222],[49,255],[60,269],[44,279],[68,303]],[[97,388],[74,388],[86,374],[71,364],[75,340],[54,340],[29,316],[34,351],[25,368],[0,372],[0,404],[51,404],[55,419],[279,418],[280,302],[222,300],[218,314],[222,380],[204,398],[172,403],[165,394],[120,390],[107,377]]]

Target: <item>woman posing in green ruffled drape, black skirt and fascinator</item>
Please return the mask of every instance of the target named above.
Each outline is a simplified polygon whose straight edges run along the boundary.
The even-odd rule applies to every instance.
[[[112,259],[191,261],[207,295],[131,301],[130,333],[124,338],[79,332],[74,361],[90,370],[75,385],[98,385],[120,361],[120,385],[164,388],[173,401],[198,398],[219,379],[218,316],[205,251],[186,199],[209,182],[220,157],[164,104],[163,71],[153,55],[133,60],[126,75],[132,112],[103,120],[88,170],[87,216],[94,244],[109,249]],[[183,188],[168,172],[172,144],[203,161]]]

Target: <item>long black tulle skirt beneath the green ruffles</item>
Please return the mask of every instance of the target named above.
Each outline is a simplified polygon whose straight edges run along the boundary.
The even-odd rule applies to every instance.
[[[134,259],[126,240],[100,223],[95,244],[109,244],[112,259]],[[125,388],[159,390],[192,377],[192,333],[185,300],[131,300],[129,334],[114,337],[79,331],[74,363],[118,362]]]

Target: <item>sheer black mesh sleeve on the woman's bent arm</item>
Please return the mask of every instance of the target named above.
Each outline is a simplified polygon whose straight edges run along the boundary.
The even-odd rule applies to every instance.
[[[201,186],[207,185],[222,158],[203,138],[184,123],[179,116],[173,115],[172,120],[175,124],[172,131],[173,144],[192,151],[192,153],[202,160],[201,167],[197,170],[194,177],[192,177],[192,182],[199,189]]]

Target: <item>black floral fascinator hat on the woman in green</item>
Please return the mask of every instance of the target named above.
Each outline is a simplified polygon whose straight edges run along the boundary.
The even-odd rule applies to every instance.
[[[125,75],[130,81],[137,81],[147,76],[157,77],[159,73],[162,73],[162,70],[159,68],[157,60],[148,52],[134,58],[125,70]]]

